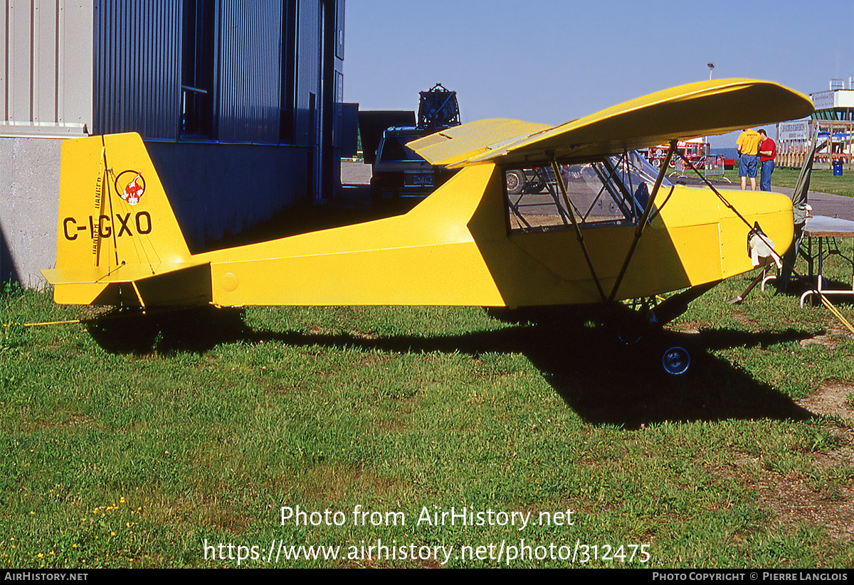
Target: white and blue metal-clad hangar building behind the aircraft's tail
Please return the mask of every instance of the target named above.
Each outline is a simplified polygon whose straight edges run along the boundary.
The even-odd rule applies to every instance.
[[[63,138],[141,134],[194,252],[336,194],[344,0],[0,9],[0,280],[56,263]]]

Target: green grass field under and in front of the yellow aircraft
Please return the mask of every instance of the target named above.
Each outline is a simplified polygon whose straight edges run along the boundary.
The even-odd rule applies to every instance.
[[[443,566],[436,547],[453,547],[444,566],[849,567],[850,539],[776,502],[851,507],[854,467],[828,465],[851,455],[850,421],[793,400],[854,383],[854,341],[797,297],[726,304],[749,280],[713,289],[667,333],[694,349],[682,379],[614,343],[598,316],[252,309],[243,331],[196,324],[112,353],[80,325],[23,327],[76,311],[7,290],[0,559],[406,567]],[[801,343],[813,338],[828,343]],[[424,521],[464,507],[530,520]],[[378,541],[395,558],[367,559]],[[268,562],[280,543],[341,558]]]

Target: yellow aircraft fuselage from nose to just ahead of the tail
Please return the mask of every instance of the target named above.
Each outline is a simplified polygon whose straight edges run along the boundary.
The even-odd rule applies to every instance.
[[[727,192],[784,252],[792,205],[780,194]],[[664,200],[662,196],[660,200]],[[572,229],[506,228],[501,174],[463,169],[407,215],[194,257],[209,262],[213,303],[529,306],[595,303],[600,294]],[[750,228],[707,188],[676,186],[640,238],[617,299],[718,281],[753,268]],[[610,292],[635,226],[582,229]]]

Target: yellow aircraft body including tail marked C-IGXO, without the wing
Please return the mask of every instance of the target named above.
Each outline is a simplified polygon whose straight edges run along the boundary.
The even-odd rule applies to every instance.
[[[93,213],[104,152],[109,167],[145,178],[137,205],[104,186]],[[67,141],[62,172],[57,266],[44,271],[59,303],[517,307],[601,300],[573,229],[509,232],[503,170],[492,163],[466,166],[406,215],[200,254],[187,251],[138,136],[105,136],[103,146],[100,137]],[[617,299],[752,269],[750,228],[716,194],[678,185],[669,198],[662,191]],[[759,223],[776,252],[786,251],[793,235],[787,197],[724,194],[751,225]],[[582,234],[610,293],[635,226]]]

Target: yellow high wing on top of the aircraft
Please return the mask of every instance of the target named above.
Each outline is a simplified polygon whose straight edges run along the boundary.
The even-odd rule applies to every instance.
[[[725,134],[812,112],[809,97],[780,84],[722,79],[658,91],[559,126],[483,120],[407,146],[433,165],[544,165]]]

